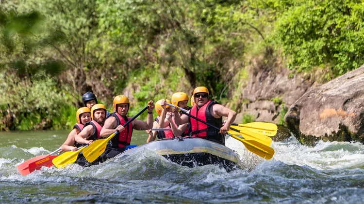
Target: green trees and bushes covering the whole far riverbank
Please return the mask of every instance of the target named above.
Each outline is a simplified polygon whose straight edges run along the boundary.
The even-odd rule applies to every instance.
[[[109,107],[128,95],[129,116],[197,86],[239,110],[250,68],[275,58],[325,80],[363,64],[363,14],[359,0],[1,1],[0,129],[69,127],[86,90]]]

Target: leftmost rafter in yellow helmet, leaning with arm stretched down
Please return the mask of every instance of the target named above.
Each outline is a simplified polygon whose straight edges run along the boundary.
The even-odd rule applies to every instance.
[[[73,126],[73,130],[69,132],[65,143],[61,146],[61,152],[76,151],[75,137],[83,130],[86,122],[91,121],[91,111],[87,107],[79,108],[76,112],[77,124]]]

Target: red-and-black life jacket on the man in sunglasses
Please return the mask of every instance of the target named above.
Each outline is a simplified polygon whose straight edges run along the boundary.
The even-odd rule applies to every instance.
[[[195,104],[190,111],[192,116],[195,116],[207,123],[215,126],[215,127],[222,127],[222,117],[215,118],[211,112],[210,107],[214,104],[218,104],[215,101],[208,101],[202,107],[198,109],[197,104]],[[222,145],[225,144],[225,135],[221,135],[219,130],[212,128],[198,120],[189,117],[189,123],[191,124],[191,134],[193,137],[199,137],[203,139],[212,140],[214,142],[220,143]]]

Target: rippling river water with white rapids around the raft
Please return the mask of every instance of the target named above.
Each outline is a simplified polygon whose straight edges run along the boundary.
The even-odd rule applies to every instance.
[[[273,142],[261,160],[227,138],[241,169],[182,167],[152,152],[81,168],[43,168],[20,175],[17,165],[56,150],[68,131],[0,132],[0,203],[363,203],[364,146],[319,142],[301,146],[291,137]],[[147,135],[134,131],[132,144]]]

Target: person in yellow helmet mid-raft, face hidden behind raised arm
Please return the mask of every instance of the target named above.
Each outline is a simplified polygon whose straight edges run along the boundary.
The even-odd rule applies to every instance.
[[[165,111],[163,110],[161,106],[161,102],[163,102],[165,99],[161,99],[155,103],[155,111],[157,112],[158,116],[154,118],[153,128],[160,128],[158,123],[161,122],[161,120],[165,120],[165,113],[170,112],[171,107],[167,105],[165,107]],[[169,100],[166,100],[167,102],[170,102]],[[163,116],[162,116],[163,114]],[[170,126],[166,126],[165,129],[170,129]],[[172,131],[151,131],[148,130],[147,133],[149,134],[149,137],[147,139],[147,143],[154,141],[155,137],[157,136],[158,139],[164,139],[164,138],[173,138],[173,132]]]

